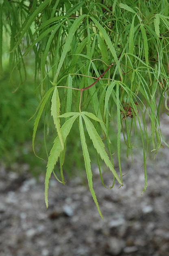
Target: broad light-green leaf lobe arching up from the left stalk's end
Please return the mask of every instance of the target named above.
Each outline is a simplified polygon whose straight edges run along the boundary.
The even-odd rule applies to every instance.
[[[58,74],[59,74],[59,72],[61,70],[61,67],[63,65],[63,61],[65,60],[67,51],[69,51],[69,48],[70,48],[70,45],[71,45],[74,33],[75,33],[76,29],[78,28],[80,22],[85,18],[85,16],[86,16],[86,14],[81,15],[72,24],[72,27],[71,27],[71,29],[69,31],[69,34],[68,34],[66,42],[65,42],[65,46],[64,46],[64,49],[63,49],[63,52],[62,52],[62,55],[61,55],[61,59],[60,59],[60,62],[58,64],[58,68],[57,68],[56,74],[54,76],[53,82],[56,82],[56,80],[58,78]]]

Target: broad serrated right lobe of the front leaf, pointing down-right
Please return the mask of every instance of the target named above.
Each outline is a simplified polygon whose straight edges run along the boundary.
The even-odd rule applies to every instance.
[[[89,137],[91,138],[93,142],[93,146],[97,150],[98,154],[100,154],[100,157],[102,160],[104,160],[104,163],[107,165],[107,167],[112,171],[113,175],[117,179],[117,181],[120,183],[121,186],[123,186],[121,180],[119,179],[110,159],[108,158],[108,155],[105,150],[104,143],[102,142],[102,139],[98,135],[95,127],[93,126],[92,122],[87,118],[85,115],[82,114],[83,119],[85,120],[85,125],[87,128],[87,132],[89,134]]]

